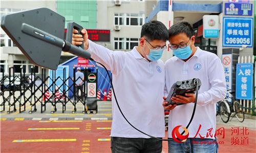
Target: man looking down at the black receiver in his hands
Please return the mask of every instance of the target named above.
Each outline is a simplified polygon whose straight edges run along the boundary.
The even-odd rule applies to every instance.
[[[199,78],[201,88],[198,94],[195,116],[188,127],[189,136],[183,143],[168,141],[169,152],[218,152],[216,132],[216,103],[226,96],[225,75],[221,60],[213,53],[195,47],[194,30],[189,23],[181,22],[168,30],[170,49],[174,57],[165,63],[166,92],[176,81]],[[166,93],[167,94],[167,93]],[[164,97],[165,99],[165,97]],[[172,130],[188,124],[195,103],[195,94],[173,97],[174,102],[184,105],[166,106],[170,111],[168,120],[168,138]],[[199,128],[201,125],[201,128]],[[199,132],[198,132],[198,129]],[[198,132],[198,133],[197,133]]]

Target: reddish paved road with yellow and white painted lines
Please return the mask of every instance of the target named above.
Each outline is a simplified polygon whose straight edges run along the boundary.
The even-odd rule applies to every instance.
[[[76,114],[71,113],[72,107],[64,114],[59,109],[51,114],[50,105],[43,114],[2,112],[1,152],[111,152],[111,102],[99,101],[98,105],[97,115],[82,114],[82,107]],[[255,125],[253,119],[240,123],[233,118],[223,123],[217,117],[217,129],[225,130],[224,138],[218,136],[219,152],[256,152]],[[247,129],[244,134],[243,129]],[[167,142],[163,142],[163,152],[167,152]]]

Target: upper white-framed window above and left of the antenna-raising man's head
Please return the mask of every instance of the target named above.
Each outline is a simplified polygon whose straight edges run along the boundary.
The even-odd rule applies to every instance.
[[[144,13],[115,13],[115,25],[142,26],[144,24]]]

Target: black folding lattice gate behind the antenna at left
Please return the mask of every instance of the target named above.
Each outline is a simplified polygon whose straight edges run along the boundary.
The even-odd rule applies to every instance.
[[[63,69],[63,75],[61,77],[56,77],[56,71],[53,71],[52,76],[46,76],[46,69],[41,69],[39,76],[35,75],[35,71],[31,71],[29,76],[25,76],[23,67],[21,69],[22,71],[18,75],[15,75],[16,73],[14,73],[13,67],[9,68],[8,75],[2,73],[2,79],[0,80],[0,104],[3,106],[3,109],[1,112],[7,111],[7,114],[10,114],[19,110],[19,113],[22,113],[26,111],[26,104],[29,103],[29,113],[32,114],[37,111],[36,105],[39,103],[41,113],[46,111],[46,105],[48,104],[51,105],[51,113],[57,111],[57,104],[62,106],[62,113],[64,113],[67,103],[71,103],[73,105],[72,113],[75,113],[77,103],[82,103],[83,113],[87,113],[86,89],[88,81],[86,78],[90,74],[88,68],[84,68],[83,71],[85,79],[76,78],[76,68],[73,69],[73,76],[76,79],[66,76],[66,68]],[[83,83],[79,88],[76,88],[76,81],[78,79],[82,79]],[[68,82],[72,83],[68,84]],[[68,95],[69,92],[73,94],[70,96]],[[18,109],[16,108],[17,105],[19,107]]]

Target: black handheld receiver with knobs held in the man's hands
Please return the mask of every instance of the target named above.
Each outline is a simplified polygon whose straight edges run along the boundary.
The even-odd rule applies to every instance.
[[[197,82],[198,80],[198,82]],[[170,104],[177,104],[177,105],[182,105],[184,103],[175,103],[172,100],[172,97],[176,95],[181,95],[185,96],[186,93],[196,93],[197,90],[197,85],[198,85],[198,90],[200,89],[201,86],[201,80],[200,79],[190,79],[190,80],[184,80],[184,81],[177,81],[176,83],[173,84],[172,88],[169,91],[169,94],[166,98],[165,101],[168,102],[167,105]]]

